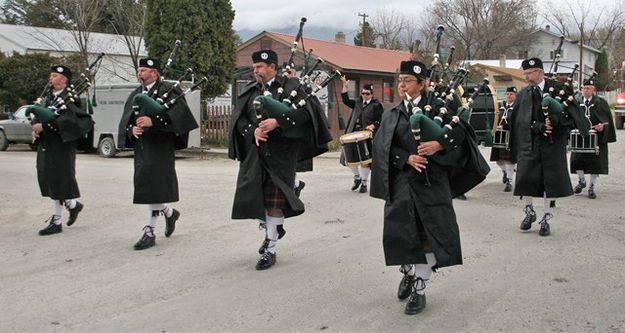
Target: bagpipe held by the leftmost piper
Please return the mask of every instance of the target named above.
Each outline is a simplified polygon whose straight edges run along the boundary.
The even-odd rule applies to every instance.
[[[63,91],[52,100],[50,105],[44,106],[44,96],[51,93],[51,86],[48,82],[41,95],[35,100],[35,103],[26,109],[26,116],[31,118],[31,120],[36,120],[43,124],[53,122],[67,110],[69,104],[75,103],[76,99],[91,87],[89,76],[95,75],[91,73],[91,70],[102,61],[102,57],[104,57],[104,53],[100,53],[86,68],[86,74],[84,72],[80,73],[80,77],[63,89]]]

